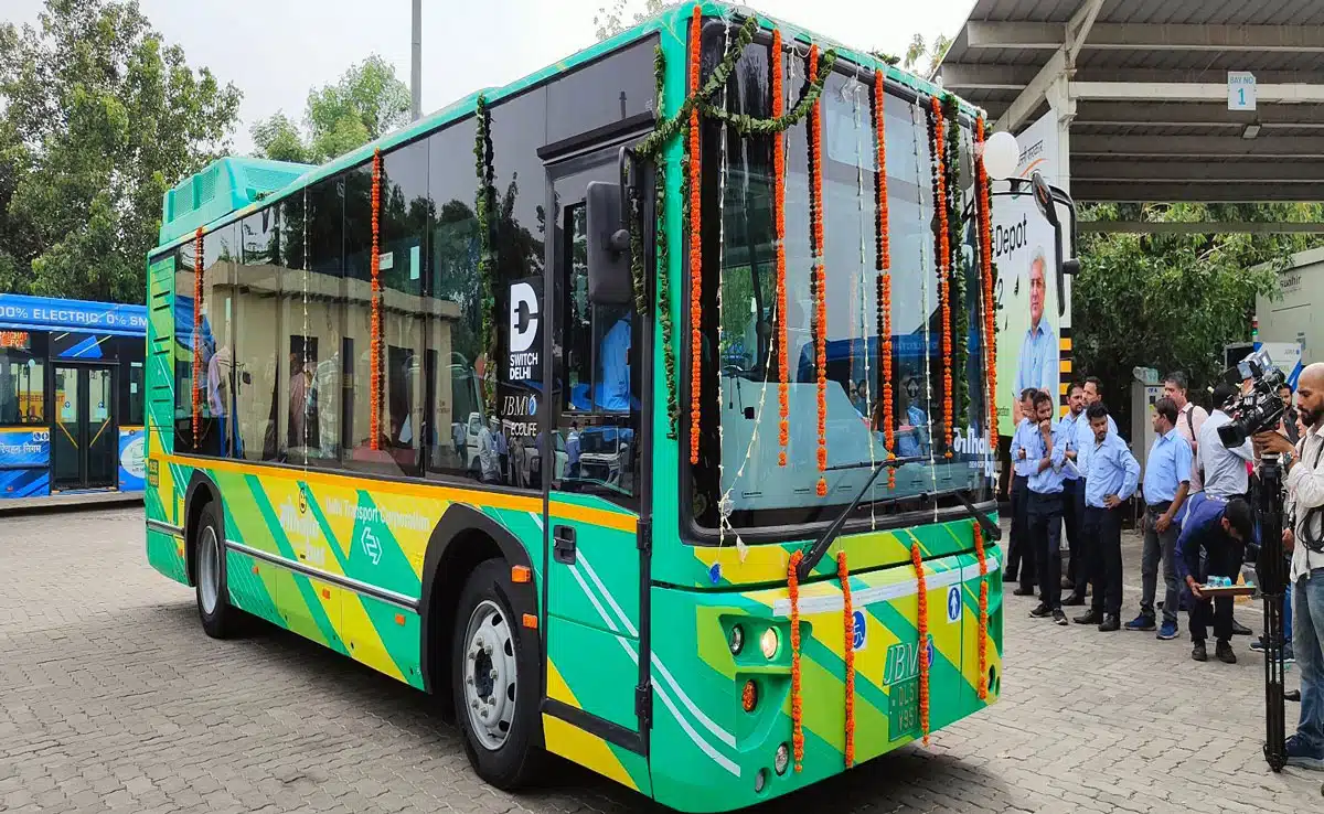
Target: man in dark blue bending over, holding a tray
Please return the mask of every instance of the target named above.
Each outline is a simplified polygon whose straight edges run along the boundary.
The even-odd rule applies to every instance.
[[[1209,597],[1204,596],[1200,589],[1201,551],[1205,553],[1205,570],[1210,577],[1237,578],[1239,566],[1237,552],[1241,551],[1242,543],[1251,539],[1254,524],[1250,503],[1242,498],[1231,500],[1207,498],[1192,507],[1182,521],[1174,560],[1177,574],[1193,598],[1190,641],[1194,647],[1190,651],[1190,658],[1197,662],[1209,660],[1205,638],[1209,622],[1213,621],[1214,637],[1218,639],[1214,654],[1221,662],[1237,663],[1237,654],[1233,653],[1231,645],[1233,598],[1218,597],[1210,608]]]

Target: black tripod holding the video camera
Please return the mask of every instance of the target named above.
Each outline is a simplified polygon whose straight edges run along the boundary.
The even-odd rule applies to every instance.
[[[1259,590],[1264,598],[1264,760],[1274,772],[1287,765],[1287,723],[1283,703],[1283,596],[1287,592],[1287,561],[1283,556],[1283,469],[1278,455],[1260,458],[1259,495]]]

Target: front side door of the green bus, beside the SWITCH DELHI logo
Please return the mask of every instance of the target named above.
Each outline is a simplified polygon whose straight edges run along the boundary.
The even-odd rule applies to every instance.
[[[560,160],[544,159],[551,181],[547,220],[553,226],[542,298],[543,314],[551,315],[544,338],[551,364],[543,376],[552,430],[539,445],[539,457],[549,463],[542,467],[549,483],[544,712],[643,753],[639,720],[647,705],[637,704],[637,687],[641,658],[647,664],[646,631],[641,650],[641,573],[647,572],[641,569],[646,553],[637,528],[645,340],[633,302],[591,302],[588,281],[591,244],[602,238],[589,233],[589,185],[620,184],[622,143],[618,138]],[[516,298],[511,302],[514,355],[531,315],[515,312]],[[547,721],[553,739],[564,724]],[[573,749],[567,757],[577,758]]]

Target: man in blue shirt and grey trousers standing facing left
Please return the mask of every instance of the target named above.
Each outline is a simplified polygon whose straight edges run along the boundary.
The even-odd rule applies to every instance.
[[[1162,627],[1158,638],[1177,638],[1177,602],[1180,601],[1176,551],[1177,524],[1173,519],[1186,502],[1190,490],[1190,445],[1177,431],[1177,402],[1164,396],[1153,406],[1153,446],[1145,462],[1145,548],[1140,560],[1140,615],[1127,622],[1127,630],[1155,629],[1155,590],[1158,588],[1158,560],[1166,594],[1162,604]]]

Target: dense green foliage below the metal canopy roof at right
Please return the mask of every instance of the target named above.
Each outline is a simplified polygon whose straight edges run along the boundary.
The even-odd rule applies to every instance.
[[[1319,221],[1317,204],[1103,204],[1082,220]],[[1135,367],[1185,371],[1193,397],[1214,383],[1222,348],[1250,339],[1255,296],[1275,296],[1304,234],[1083,234],[1071,290],[1076,371],[1099,376],[1125,409]],[[1198,398],[1197,398],[1198,400]],[[1123,422],[1119,420],[1119,425]]]

